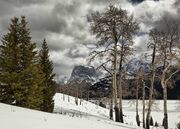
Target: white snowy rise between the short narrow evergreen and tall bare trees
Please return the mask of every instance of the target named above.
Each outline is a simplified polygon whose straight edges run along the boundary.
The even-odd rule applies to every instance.
[[[78,99],[78,105],[75,103],[75,98],[72,96],[57,93],[54,96],[55,100],[55,113],[69,113],[72,115],[78,115],[87,117],[94,116],[103,119],[108,119],[109,110],[102,108],[91,102]],[[81,101],[81,102],[80,102]],[[81,104],[80,104],[81,103]]]

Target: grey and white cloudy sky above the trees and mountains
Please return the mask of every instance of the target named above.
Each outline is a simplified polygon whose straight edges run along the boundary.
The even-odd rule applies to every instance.
[[[163,17],[180,22],[180,0],[0,0],[0,38],[7,33],[10,19],[26,16],[33,42],[40,47],[46,38],[54,71],[69,76],[75,65],[86,64],[92,44],[87,14],[109,4],[128,10],[140,23],[143,34],[135,37],[135,47],[144,51],[147,32]]]

